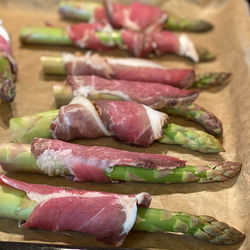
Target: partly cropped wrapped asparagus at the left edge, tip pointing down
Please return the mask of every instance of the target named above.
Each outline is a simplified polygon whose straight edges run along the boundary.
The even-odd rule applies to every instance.
[[[0,20],[0,98],[11,102],[16,95],[17,66],[10,47],[10,37]]]

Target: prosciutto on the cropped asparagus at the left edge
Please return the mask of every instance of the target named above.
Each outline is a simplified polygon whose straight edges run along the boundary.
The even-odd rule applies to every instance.
[[[2,21],[0,20],[0,57],[5,57],[8,59],[13,75],[17,73],[17,64],[12,54],[12,49],[10,47],[10,37],[6,29],[2,26]]]

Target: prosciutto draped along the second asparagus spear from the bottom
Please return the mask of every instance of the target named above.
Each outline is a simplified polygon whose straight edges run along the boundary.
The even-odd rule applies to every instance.
[[[171,170],[185,165],[185,161],[160,154],[145,154],[108,147],[82,146],[53,139],[34,139],[31,152],[39,159],[51,152],[54,159],[64,165],[77,181],[110,182],[104,171],[114,166],[131,166],[146,169]],[[45,165],[38,166],[43,170]],[[51,165],[51,162],[48,163]],[[56,166],[54,166],[56,168]],[[50,173],[55,172],[50,169]]]

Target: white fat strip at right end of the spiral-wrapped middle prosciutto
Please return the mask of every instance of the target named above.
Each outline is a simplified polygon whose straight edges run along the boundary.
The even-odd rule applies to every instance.
[[[151,128],[154,134],[154,140],[162,137],[162,127],[168,119],[167,114],[151,109],[150,107],[143,105],[147,111],[148,118],[150,120]]]

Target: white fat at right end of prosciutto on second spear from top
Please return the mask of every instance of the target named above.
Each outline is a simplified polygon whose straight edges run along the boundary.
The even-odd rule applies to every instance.
[[[194,43],[186,34],[179,37],[180,55],[191,58],[194,62],[199,62],[199,55],[194,47]]]

